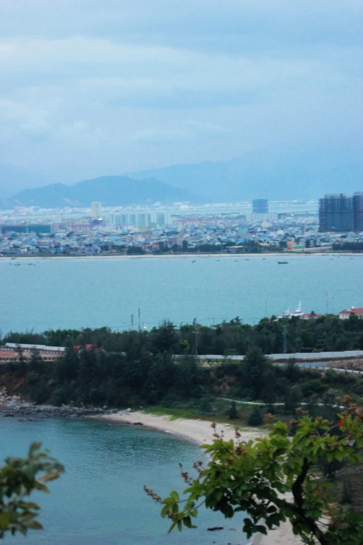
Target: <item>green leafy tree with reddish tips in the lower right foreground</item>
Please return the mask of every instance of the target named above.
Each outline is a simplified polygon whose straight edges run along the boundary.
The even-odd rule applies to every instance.
[[[271,425],[268,436],[248,443],[241,441],[238,431],[236,441],[225,441],[215,431],[215,441],[202,446],[211,461],[207,466],[202,461],[194,464],[197,478],[181,468],[188,484],[184,500],[176,491],[162,499],[145,490],[163,505],[161,515],[172,522],[170,530],[195,528],[192,519],[204,505],[226,518],[245,512],[243,531],[248,537],[266,534],[289,519],[294,534],[307,545],[362,544],[363,515],[334,505],[332,485],[318,476],[321,459],[353,466],[362,461],[363,409],[348,397],[346,403],[338,425],[300,411],[301,418],[291,422],[291,438],[281,421]]]

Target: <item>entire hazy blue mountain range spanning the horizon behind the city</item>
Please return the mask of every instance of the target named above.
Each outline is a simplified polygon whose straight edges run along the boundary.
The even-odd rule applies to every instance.
[[[22,173],[10,180],[1,171],[1,187],[16,191]],[[29,187],[30,181],[26,179]],[[26,178],[26,177],[25,177]],[[24,189],[3,198],[2,207],[89,206],[98,200],[104,206],[175,201],[218,203],[252,200],[268,194],[270,200],[319,198],[324,193],[363,191],[363,159],[358,152],[340,148],[300,150],[279,146],[256,150],[228,161],[206,161],[103,176],[73,185],[50,184]],[[35,185],[35,184],[34,184]],[[14,191],[14,193],[15,193]],[[0,194],[1,196],[1,194]]]

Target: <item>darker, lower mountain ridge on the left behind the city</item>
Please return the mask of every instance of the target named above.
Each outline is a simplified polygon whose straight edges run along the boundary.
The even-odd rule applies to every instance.
[[[3,199],[2,206],[87,207],[92,201],[99,201],[103,206],[146,205],[156,202],[167,205],[177,201],[197,203],[200,202],[200,197],[152,177],[134,180],[127,176],[102,176],[83,180],[72,186],[49,184],[45,187],[24,189],[12,198]]]

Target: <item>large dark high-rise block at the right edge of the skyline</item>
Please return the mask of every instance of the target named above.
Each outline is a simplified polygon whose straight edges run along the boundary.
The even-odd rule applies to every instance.
[[[319,231],[349,232],[363,230],[363,193],[347,197],[325,195],[319,199]]]

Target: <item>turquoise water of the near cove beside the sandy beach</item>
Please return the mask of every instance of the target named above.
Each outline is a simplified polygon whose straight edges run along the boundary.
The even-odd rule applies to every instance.
[[[243,516],[226,521],[202,510],[196,530],[168,535],[168,521],[143,485],[162,494],[182,491],[180,461],[191,469],[201,458],[197,445],[171,434],[97,420],[17,422],[0,416],[0,463],[25,455],[31,441],[42,441],[65,464],[66,473],[50,483],[49,495],[34,500],[42,508],[42,532],[10,537],[13,545],[244,545]],[[208,532],[210,526],[224,526]],[[228,528],[236,528],[236,531]]]

